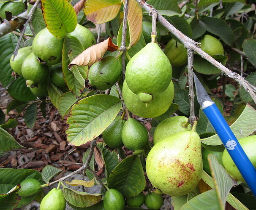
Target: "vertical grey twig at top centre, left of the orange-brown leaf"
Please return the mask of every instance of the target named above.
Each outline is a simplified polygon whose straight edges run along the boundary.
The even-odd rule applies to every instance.
[[[126,32],[127,32],[127,18],[128,18],[128,4],[129,0],[125,0],[125,5],[123,8],[123,29],[122,29],[122,42],[121,42],[121,51],[123,51],[122,54],[122,72],[123,72],[123,80],[125,79],[125,51],[126,51],[126,46],[125,46],[125,41],[126,41]]]

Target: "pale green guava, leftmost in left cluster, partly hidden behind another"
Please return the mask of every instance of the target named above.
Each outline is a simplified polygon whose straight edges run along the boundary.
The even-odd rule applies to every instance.
[[[14,70],[15,73],[19,74],[20,76],[22,76],[21,68],[22,68],[23,61],[30,53],[32,53],[31,46],[19,49],[18,54],[17,56],[15,56],[15,58],[14,58],[14,55],[11,56],[11,59],[10,59],[11,68]],[[14,58],[14,61],[13,61],[13,58]]]

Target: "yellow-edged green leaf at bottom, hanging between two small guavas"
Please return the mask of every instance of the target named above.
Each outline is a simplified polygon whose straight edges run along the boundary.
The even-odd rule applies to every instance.
[[[75,209],[90,207],[101,201],[101,194],[90,194],[87,192],[76,191],[65,185],[63,185],[63,195],[68,205],[71,205]]]

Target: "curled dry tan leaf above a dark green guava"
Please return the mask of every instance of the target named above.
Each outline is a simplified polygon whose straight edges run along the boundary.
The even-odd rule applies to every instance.
[[[118,46],[112,43],[111,38],[107,38],[105,41],[87,48],[80,53],[73,61],[68,65],[68,69],[71,66],[89,66],[101,60],[106,51],[117,51]]]

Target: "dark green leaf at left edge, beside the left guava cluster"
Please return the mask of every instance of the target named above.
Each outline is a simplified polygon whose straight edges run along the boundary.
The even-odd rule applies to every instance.
[[[11,72],[13,72],[13,70],[10,66],[10,58],[14,53],[16,45],[17,40],[13,33],[8,33],[0,39],[0,82],[4,87],[14,80],[14,77],[11,76]]]

